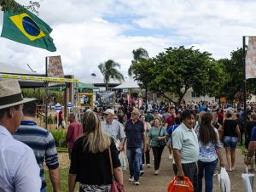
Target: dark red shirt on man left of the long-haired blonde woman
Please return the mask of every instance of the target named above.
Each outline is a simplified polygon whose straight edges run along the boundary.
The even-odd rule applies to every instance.
[[[70,123],[70,125],[67,128],[67,135],[66,135],[66,141],[67,141],[67,148],[69,150],[73,149],[73,143],[77,138],[79,138],[83,133],[83,128],[81,123],[78,121],[73,121]]]

